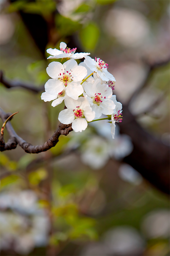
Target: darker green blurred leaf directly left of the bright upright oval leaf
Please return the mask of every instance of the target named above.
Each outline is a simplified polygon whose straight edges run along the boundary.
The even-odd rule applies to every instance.
[[[81,28],[81,24],[78,21],[71,20],[63,17],[60,14],[55,16],[55,25],[59,29],[62,36],[72,35],[74,32]]]

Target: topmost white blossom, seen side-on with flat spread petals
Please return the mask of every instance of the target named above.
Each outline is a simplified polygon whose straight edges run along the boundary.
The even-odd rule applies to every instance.
[[[49,56],[47,59],[63,59],[63,58],[70,58],[70,59],[82,59],[85,56],[89,55],[89,52],[80,52],[75,53],[77,48],[70,49],[67,47],[67,44],[64,42],[60,43],[60,50],[58,49],[47,49],[47,52],[52,56]]]

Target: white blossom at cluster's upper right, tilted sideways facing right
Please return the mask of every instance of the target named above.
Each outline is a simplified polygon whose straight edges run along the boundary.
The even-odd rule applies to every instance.
[[[107,71],[108,64],[100,58],[95,58],[94,60],[89,56],[85,56],[84,62],[87,67],[90,68],[90,70],[93,72],[96,72],[97,76],[100,77],[103,81],[115,81],[115,77]]]

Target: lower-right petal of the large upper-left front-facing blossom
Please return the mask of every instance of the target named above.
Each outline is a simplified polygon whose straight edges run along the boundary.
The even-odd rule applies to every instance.
[[[71,83],[68,83],[65,92],[72,99],[78,100],[78,96],[81,95],[84,90],[80,83],[72,81]]]

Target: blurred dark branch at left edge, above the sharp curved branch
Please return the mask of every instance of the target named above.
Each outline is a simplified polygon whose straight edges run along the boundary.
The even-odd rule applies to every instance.
[[[44,91],[44,85],[41,87],[33,86],[32,84],[26,84],[20,81],[10,81],[4,77],[3,71],[0,71],[0,82],[3,84],[6,88],[16,88],[16,87],[22,87],[28,91],[39,93]]]

